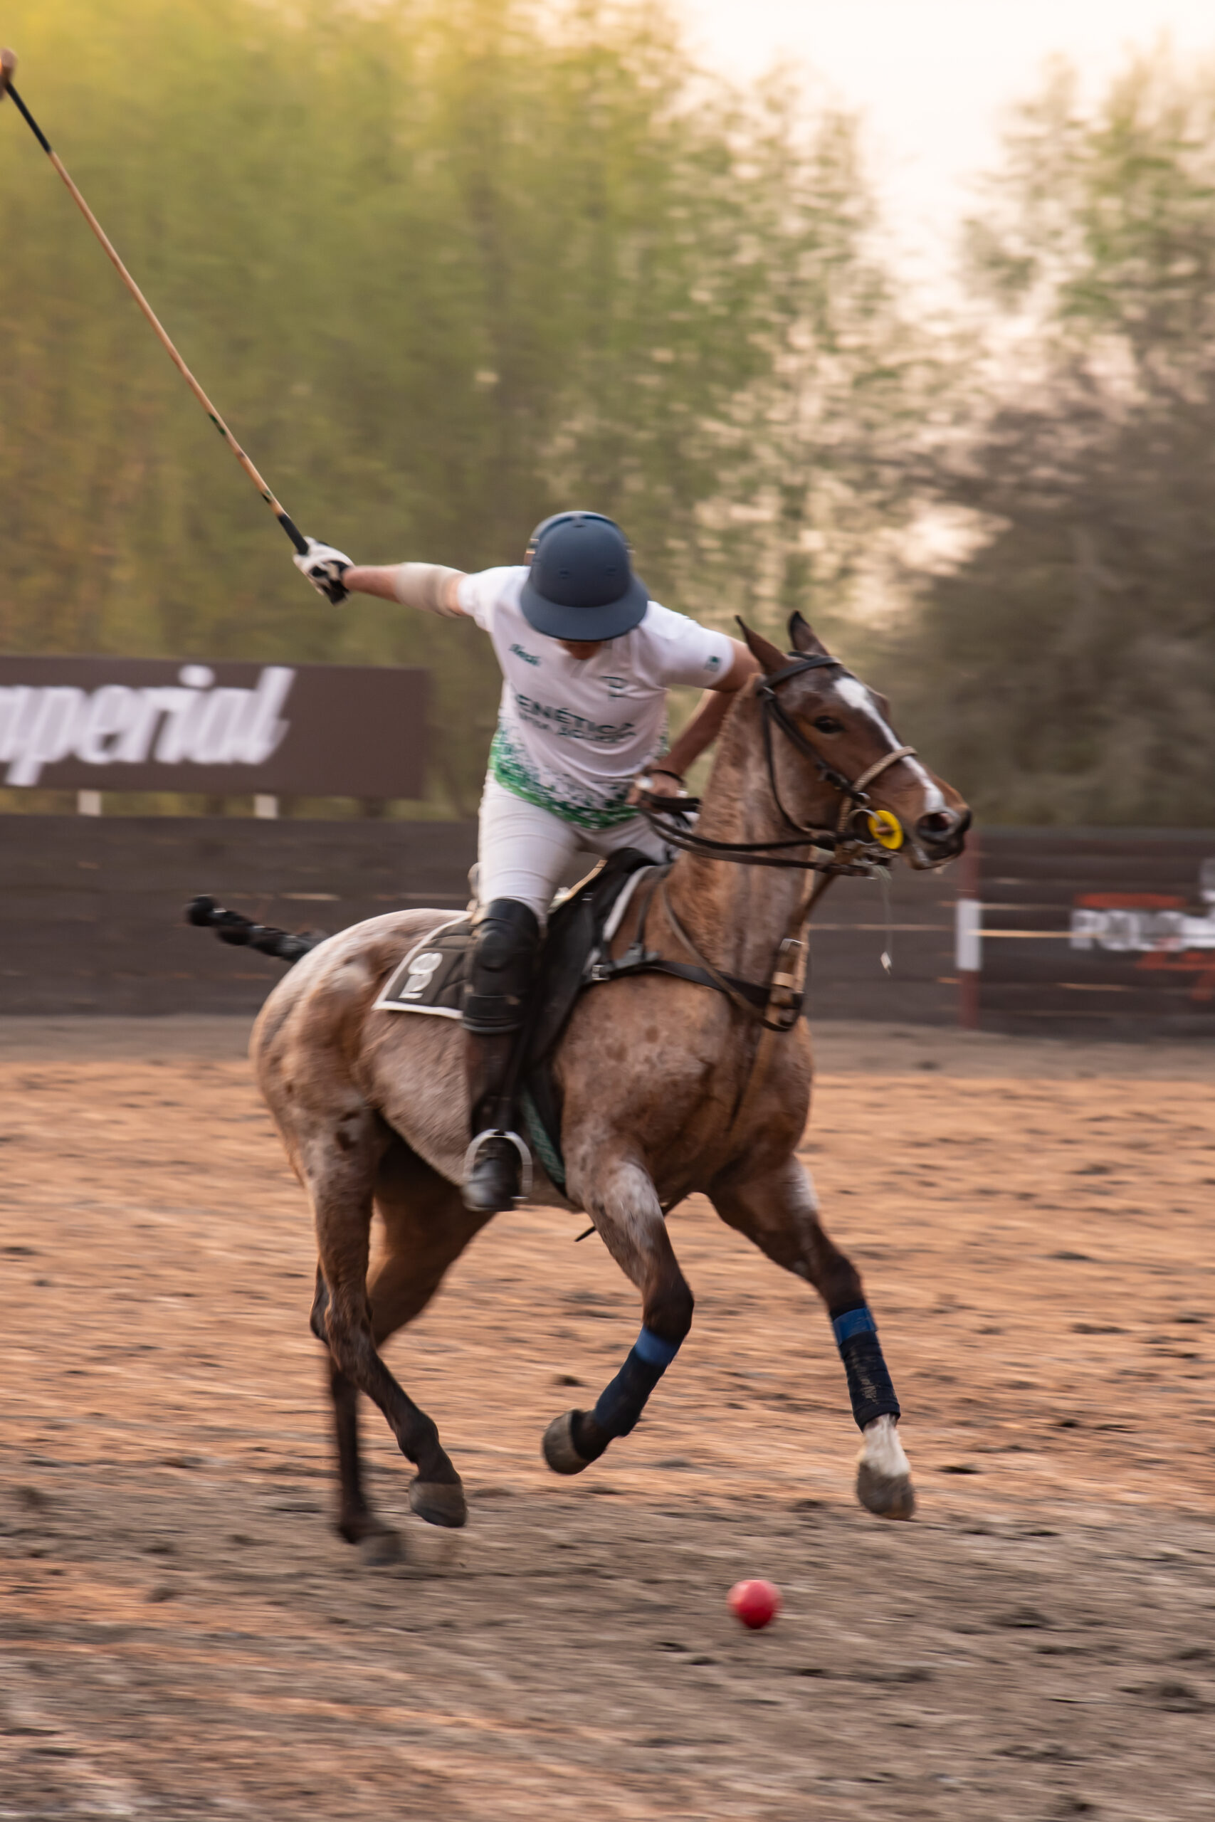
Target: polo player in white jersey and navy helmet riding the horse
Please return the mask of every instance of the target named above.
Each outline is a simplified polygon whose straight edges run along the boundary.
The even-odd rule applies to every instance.
[[[352,563],[311,537],[295,563],[335,603],[375,594],[474,619],[503,670],[465,1002],[472,1144],[463,1197],[494,1213],[519,1190],[525,1146],[512,1130],[510,1066],[554,891],[579,849],[667,858],[638,796],[678,794],[758,665],[738,640],[650,601],[625,534],[599,512],[559,512],[536,527],[523,563],[472,576],[441,563]],[[705,694],[667,749],[674,683],[699,683]]]

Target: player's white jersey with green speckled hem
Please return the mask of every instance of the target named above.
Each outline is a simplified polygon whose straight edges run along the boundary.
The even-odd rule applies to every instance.
[[[650,601],[632,632],[594,658],[570,658],[523,618],[525,576],[519,565],[459,583],[459,605],[490,634],[503,667],[490,776],[581,829],[610,829],[638,814],[628,787],[665,751],[667,689],[723,678],[730,641]]]

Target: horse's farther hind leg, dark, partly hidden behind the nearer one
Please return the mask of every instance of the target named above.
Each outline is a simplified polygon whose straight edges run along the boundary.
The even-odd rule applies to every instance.
[[[395,1139],[375,1177],[375,1208],[384,1223],[384,1252],[368,1281],[372,1337],[384,1341],[419,1315],[468,1241],[490,1219],[472,1215],[454,1184],[430,1170],[417,1153]],[[326,1343],[324,1312],[328,1288],[317,1268],[317,1297],[311,1312],[313,1334]],[[330,1356],[330,1394],[341,1481],[337,1529],[348,1543],[383,1540],[383,1554],[393,1554],[395,1532],[372,1510],[362,1490],[359,1454],[359,1388]],[[450,1500],[444,1490],[441,1501]],[[423,1514],[426,1516],[426,1514]]]

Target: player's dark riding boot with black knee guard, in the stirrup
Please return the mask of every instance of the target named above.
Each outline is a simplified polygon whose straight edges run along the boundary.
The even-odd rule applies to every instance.
[[[465,997],[468,1106],[472,1144],[465,1161],[465,1208],[492,1215],[519,1195],[528,1150],[512,1130],[514,1049],[523,1040],[539,922],[516,898],[494,898],[477,911],[474,951]]]

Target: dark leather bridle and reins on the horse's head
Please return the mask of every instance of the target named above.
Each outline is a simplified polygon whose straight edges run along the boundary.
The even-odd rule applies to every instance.
[[[710,836],[698,834],[687,825],[685,818],[699,809],[699,798],[678,798],[676,807],[667,809],[670,798],[650,796],[648,802],[641,802],[638,807],[656,834],[659,834],[672,847],[679,847],[689,855],[701,855],[705,860],[725,860],[743,867],[796,867],[803,873],[825,873],[834,876],[840,873],[873,873],[874,865],[889,864],[889,849],[885,849],[880,842],[865,842],[860,836],[849,836],[847,829],[856,813],[869,807],[871,798],[867,787],[874,782],[874,778],[880,778],[882,773],[885,773],[891,765],[896,765],[898,760],[911,758],[916,749],[894,747],[891,752],[883,752],[878,760],[874,760],[873,765],[867,765],[860,778],[847,778],[836,765],[823,758],[818,747],[805,738],[776,694],[781,683],[805,676],[809,670],[842,670],[843,676],[853,676],[853,672],[845,670],[838,658],[829,658],[827,652],[791,652],[787,665],[780,670],[769,672],[756,685],[756,698],[761,705],[763,762],[767,767],[769,791],[781,822],[787,829],[794,829],[796,833],[792,836],[780,836],[769,842],[714,842]],[[781,734],[792,742],[798,752],[805,754],[805,758],[814,763],[823,783],[829,783],[840,793],[840,816],[834,829],[820,829],[801,824],[785,809],[785,802],[776,782],[772,727],[778,727]],[[789,849],[796,847],[812,847],[814,853],[807,860],[794,860]]]

